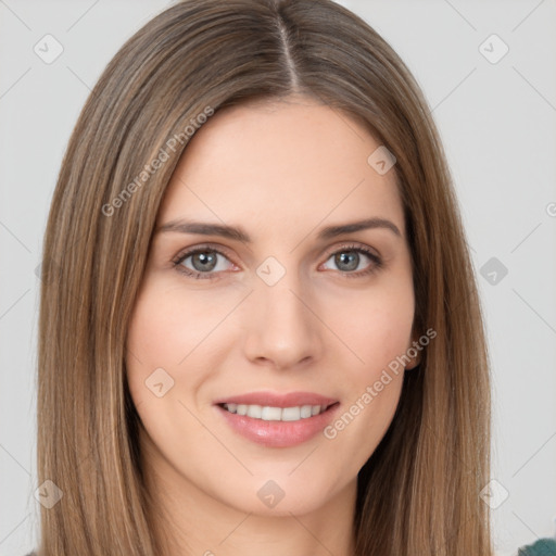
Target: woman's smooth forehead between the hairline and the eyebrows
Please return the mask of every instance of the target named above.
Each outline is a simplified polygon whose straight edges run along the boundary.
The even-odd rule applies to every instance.
[[[308,99],[225,109],[186,148],[159,223],[195,217],[299,232],[377,216],[403,233],[394,170],[380,175],[367,162],[379,147],[357,122]]]

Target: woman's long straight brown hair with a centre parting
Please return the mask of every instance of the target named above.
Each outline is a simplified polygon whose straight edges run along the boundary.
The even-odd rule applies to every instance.
[[[161,553],[124,361],[159,205],[210,114],[294,92],[363,123],[395,155],[415,329],[437,332],[359,472],[356,555],[492,554],[479,496],[490,473],[480,301],[418,85],[368,24],[330,0],[186,0],[110,62],[54,191],[42,261],[38,475],[63,495],[41,508],[41,556]]]

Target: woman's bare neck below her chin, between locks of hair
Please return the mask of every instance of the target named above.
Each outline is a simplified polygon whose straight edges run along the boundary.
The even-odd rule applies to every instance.
[[[151,456],[143,469],[155,501],[155,507],[150,508],[151,518],[165,556],[353,556],[355,553],[356,481],[313,510],[295,515],[291,511],[255,514],[215,498],[160,454]]]

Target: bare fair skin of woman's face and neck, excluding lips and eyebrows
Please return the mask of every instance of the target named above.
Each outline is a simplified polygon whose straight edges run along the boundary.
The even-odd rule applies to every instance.
[[[395,175],[367,163],[379,144],[348,116],[290,97],[218,112],[187,147],[157,226],[235,225],[253,241],[167,231],[149,253],[126,368],[167,554],[353,554],[357,473],[393,418],[404,370],[334,439],[318,433],[296,446],[244,439],[213,404],[255,390],[309,391],[339,400],[341,415],[412,346]],[[401,236],[375,228],[316,239],[325,226],[369,217],[391,220]],[[208,270],[216,278],[179,273],[202,271],[198,255],[173,261],[206,243],[225,253]],[[355,269],[334,260],[350,244],[370,249],[382,267],[350,277],[376,267],[364,253]],[[256,274],[268,256],[286,270],[271,287]],[[156,368],[174,380],[161,397],[146,386]],[[257,496],[269,480],[285,493],[273,508]]]

